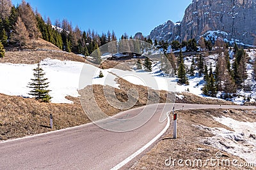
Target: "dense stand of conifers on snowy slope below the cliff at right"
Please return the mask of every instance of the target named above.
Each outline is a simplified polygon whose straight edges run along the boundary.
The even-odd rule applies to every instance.
[[[190,41],[195,43],[193,39]],[[173,41],[172,47],[177,44],[176,41]],[[246,64],[249,60],[243,46],[239,48],[234,43],[232,49],[221,38],[216,39],[211,48],[207,47],[207,41],[204,38],[200,38],[196,46],[200,47],[200,53],[193,57],[189,68],[184,65],[184,56],[181,49],[176,60],[173,53],[167,55],[167,59],[173,63],[173,73],[179,78],[178,83],[188,85],[188,76],[195,76],[195,71],[197,71],[198,76],[204,76],[205,85],[202,91],[206,96],[216,97],[217,92],[223,92],[225,96],[221,97],[227,99],[231,94],[236,94],[237,89],[251,90],[251,85],[245,81],[248,78]],[[208,61],[208,52],[213,47],[217,57],[216,69],[213,69],[212,63]],[[181,46],[177,45],[178,48],[181,48]],[[234,63],[232,64],[230,63],[231,51],[234,52]],[[254,61],[252,65],[253,77],[256,79],[256,62]]]

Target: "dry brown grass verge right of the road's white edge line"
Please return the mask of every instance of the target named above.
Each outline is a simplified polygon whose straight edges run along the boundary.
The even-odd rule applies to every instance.
[[[210,145],[202,143],[201,139],[206,137],[211,137],[212,134],[202,131],[196,128],[194,125],[204,125],[207,127],[223,127],[232,131],[232,129],[222,125],[212,118],[220,117],[221,115],[225,117],[231,117],[235,120],[241,118],[248,122],[255,122],[256,115],[251,111],[248,114],[244,114],[243,110],[229,110],[228,113],[223,113],[223,110],[184,110],[177,111],[178,114],[178,131],[177,139],[173,138],[173,127],[170,126],[170,131],[166,136],[162,138],[159,143],[157,143],[150,152],[146,153],[141,157],[140,160],[135,162],[130,169],[193,169],[191,167],[179,167],[177,166],[165,166],[164,161],[169,157],[173,159],[216,159],[216,153],[220,150],[213,148]],[[204,148],[205,150],[198,151],[198,148]],[[230,155],[226,152],[223,153],[224,159],[237,159],[239,162],[244,162],[243,159]],[[194,169],[239,169],[236,167],[195,167]]]

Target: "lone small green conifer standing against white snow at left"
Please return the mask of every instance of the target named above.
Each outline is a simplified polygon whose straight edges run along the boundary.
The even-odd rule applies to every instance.
[[[35,96],[36,100],[43,101],[45,103],[49,103],[51,100],[51,96],[49,96],[49,92],[51,90],[47,90],[49,87],[49,82],[47,82],[47,78],[44,78],[44,70],[40,67],[40,63],[37,64],[37,67],[33,69],[34,78],[31,79],[31,83],[29,83],[29,88],[32,89],[29,92],[29,95]]]

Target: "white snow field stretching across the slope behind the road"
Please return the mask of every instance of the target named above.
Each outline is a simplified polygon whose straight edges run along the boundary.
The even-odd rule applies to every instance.
[[[237,97],[233,97],[231,101],[236,104],[243,104],[245,99],[250,98],[251,102],[256,99],[256,82],[253,79],[252,63],[255,61],[256,50],[246,50],[250,62],[247,66],[248,78],[246,84],[250,85],[252,90],[244,92],[237,90]],[[184,64],[189,68],[193,56],[185,57]],[[212,64],[213,71],[216,69],[217,55],[209,55],[206,57],[207,65]],[[230,52],[230,62],[232,59],[232,52]],[[177,84],[177,77],[170,77],[161,72],[161,63],[155,61],[152,63],[152,72],[137,70],[136,67],[131,67],[131,71],[122,71],[120,69],[99,69],[90,64],[73,61],[60,61],[54,59],[45,59],[41,61],[42,68],[45,71],[45,77],[49,78],[49,93],[52,98],[52,103],[72,103],[65,99],[66,96],[79,97],[77,90],[79,89],[79,80],[81,71],[83,70],[83,87],[92,84],[110,85],[118,88],[115,79],[118,77],[124,78],[136,85],[144,85],[156,90],[169,90],[171,92],[191,92],[196,96],[207,97],[202,94],[202,88],[205,81],[203,76],[198,76],[198,71],[195,71],[195,76],[188,76],[189,85]],[[36,64],[0,64],[0,93],[11,96],[29,96],[28,83],[33,78],[33,69]],[[208,67],[209,69],[209,67]],[[104,74],[103,78],[99,78],[99,71]],[[86,78],[87,77],[87,78]],[[91,77],[91,78],[89,78]],[[220,99],[219,92],[217,98]],[[212,97],[208,97],[212,98]],[[214,98],[216,99],[216,98]]]

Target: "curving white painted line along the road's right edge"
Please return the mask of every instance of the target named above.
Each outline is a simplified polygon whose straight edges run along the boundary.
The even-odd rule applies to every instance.
[[[133,153],[131,156],[127,157],[127,159],[123,160],[122,162],[120,162],[119,164],[117,164],[115,167],[111,168],[111,170],[117,170],[120,169],[121,167],[125,166],[125,164],[127,164],[128,162],[130,162],[132,159],[134,159],[135,157],[137,157],[138,155],[140,155],[140,153],[142,153],[144,150],[146,150],[150,145],[152,145],[157,139],[159,139],[166,131],[167,129],[170,127],[170,117],[169,114],[170,111],[168,111],[166,113],[167,115],[167,124],[164,127],[163,131],[161,131],[159,134],[157,134],[157,136],[152,139],[151,141],[149,141],[145,146],[143,146],[142,148],[140,148],[140,150],[136,151],[135,153]]]

